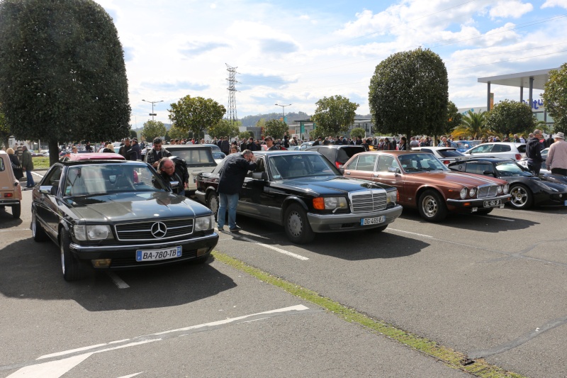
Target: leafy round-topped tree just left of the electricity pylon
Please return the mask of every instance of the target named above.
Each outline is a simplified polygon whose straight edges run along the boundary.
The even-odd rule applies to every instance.
[[[225,107],[218,104],[217,101],[200,96],[187,95],[171,106],[169,119],[175,123],[176,128],[183,130],[186,134],[191,132],[201,135],[223,119],[226,113]]]

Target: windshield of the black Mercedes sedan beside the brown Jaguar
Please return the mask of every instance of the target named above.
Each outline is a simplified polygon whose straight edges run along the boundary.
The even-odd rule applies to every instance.
[[[291,153],[269,157],[269,170],[274,180],[297,177],[342,176],[339,170],[319,154],[293,155]]]

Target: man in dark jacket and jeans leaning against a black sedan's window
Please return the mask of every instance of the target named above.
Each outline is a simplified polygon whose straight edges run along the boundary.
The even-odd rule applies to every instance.
[[[225,157],[225,165],[220,170],[218,180],[218,230],[222,231],[228,209],[228,229],[231,233],[241,230],[236,224],[236,206],[242,184],[248,171],[256,169],[254,152],[244,150],[241,154]]]

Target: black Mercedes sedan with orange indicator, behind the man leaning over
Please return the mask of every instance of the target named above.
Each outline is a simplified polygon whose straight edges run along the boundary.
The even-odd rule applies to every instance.
[[[293,243],[315,233],[380,232],[402,212],[390,185],[342,177],[322,155],[310,151],[255,151],[257,169],[242,185],[237,213],[283,226]],[[197,177],[196,197],[218,211],[223,164]]]

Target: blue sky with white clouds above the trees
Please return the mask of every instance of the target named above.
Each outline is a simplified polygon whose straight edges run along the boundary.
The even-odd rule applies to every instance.
[[[227,106],[227,66],[237,67],[237,115],[312,114],[340,94],[369,113],[368,86],[389,55],[429,48],[444,61],[449,99],[485,106],[478,77],[556,68],[567,61],[567,0],[193,1],[96,0],[125,50],[133,127],[155,105],[187,94]],[[495,102],[519,89],[493,86]],[[524,91],[526,93],[526,91]],[[534,91],[534,97],[541,90]]]

